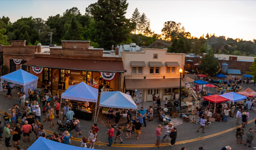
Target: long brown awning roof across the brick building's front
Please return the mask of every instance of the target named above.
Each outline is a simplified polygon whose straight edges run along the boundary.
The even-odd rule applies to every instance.
[[[66,70],[124,73],[122,61],[110,60],[34,57],[23,65]]]

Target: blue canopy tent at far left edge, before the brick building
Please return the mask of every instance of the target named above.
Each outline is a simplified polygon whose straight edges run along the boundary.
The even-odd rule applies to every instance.
[[[26,95],[26,98],[29,97],[28,89],[31,89],[33,91],[37,88],[37,80],[38,77],[35,75],[32,75],[22,69],[19,69],[15,72],[12,72],[7,75],[1,76],[1,88],[0,91],[3,90],[3,84],[5,82],[11,82],[10,87],[16,86],[16,84],[23,86],[23,92]]]

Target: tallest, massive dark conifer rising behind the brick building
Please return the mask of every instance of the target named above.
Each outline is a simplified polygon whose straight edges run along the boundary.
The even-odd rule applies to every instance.
[[[129,38],[130,22],[125,14],[127,0],[98,0],[86,8],[86,14],[95,21],[96,41],[101,48],[125,42]]]

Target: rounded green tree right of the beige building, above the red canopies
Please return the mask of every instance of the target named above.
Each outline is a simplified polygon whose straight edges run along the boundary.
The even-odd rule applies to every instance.
[[[219,69],[219,61],[214,57],[214,54],[210,53],[203,56],[201,63],[198,66],[200,74],[216,75]]]

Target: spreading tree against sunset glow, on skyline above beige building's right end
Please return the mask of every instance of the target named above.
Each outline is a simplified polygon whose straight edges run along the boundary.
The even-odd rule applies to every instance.
[[[174,38],[180,38],[186,35],[185,28],[181,23],[175,23],[173,21],[168,21],[163,24],[163,28],[161,29],[162,36],[165,40],[171,40]]]

